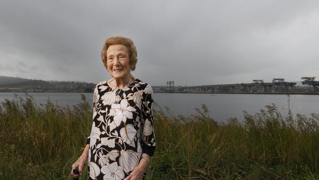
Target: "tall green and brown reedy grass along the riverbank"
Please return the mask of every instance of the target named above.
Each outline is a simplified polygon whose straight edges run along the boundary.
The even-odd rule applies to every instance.
[[[90,134],[92,108],[31,96],[0,106],[0,180],[70,180]],[[155,112],[156,152],[148,180],[317,180],[319,115],[282,117],[275,105],[220,124],[202,105],[189,118]],[[243,121],[243,122],[241,122]],[[83,178],[87,180],[87,168]]]

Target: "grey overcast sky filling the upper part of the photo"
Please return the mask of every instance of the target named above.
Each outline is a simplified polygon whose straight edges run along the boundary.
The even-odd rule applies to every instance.
[[[115,35],[153,86],[319,79],[319,0],[0,0],[0,75],[109,79]]]

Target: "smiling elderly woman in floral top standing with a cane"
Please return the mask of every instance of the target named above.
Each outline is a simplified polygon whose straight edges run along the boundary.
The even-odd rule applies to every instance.
[[[91,135],[80,158],[72,165],[80,175],[88,158],[90,179],[141,180],[154,154],[153,90],[135,78],[137,52],[133,41],[110,37],[102,50],[102,60],[112,79],[94,90]]]

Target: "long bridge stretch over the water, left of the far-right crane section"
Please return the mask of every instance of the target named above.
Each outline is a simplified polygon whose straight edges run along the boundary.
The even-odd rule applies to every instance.
[[[204,92],[204,93],[274,93],[291,92],[296,85],[294,82],[285,82],[283,78],[273,78],[271,83],[264,80],[254,79],[253,83],[205,85],[179,88],[182,92]]]

